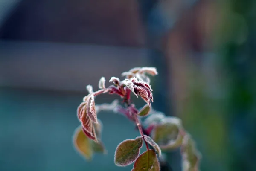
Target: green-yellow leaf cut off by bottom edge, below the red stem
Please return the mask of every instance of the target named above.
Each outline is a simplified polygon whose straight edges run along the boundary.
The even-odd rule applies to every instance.
[[[134,162],[134,168],[131,171],[160,171],[160,165],[157,154],[154,150],[145,151]]]

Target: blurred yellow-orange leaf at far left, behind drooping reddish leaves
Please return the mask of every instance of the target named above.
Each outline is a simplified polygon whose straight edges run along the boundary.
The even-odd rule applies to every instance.
[[[83,157],[91,160],[93,157],[93,149],[90,144],[90,139],[82,131],[82,127],[76,128],[73,135],[73,144],[76,151],[79,152]]]

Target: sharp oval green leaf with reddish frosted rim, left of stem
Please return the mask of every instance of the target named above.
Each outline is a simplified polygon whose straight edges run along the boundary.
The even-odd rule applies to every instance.
[[[118,166],[130,165],[138,157],[142,144],[143,139],[141,136],[136,139],[122,141],[116,148],[115,164]]]

